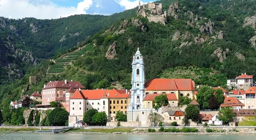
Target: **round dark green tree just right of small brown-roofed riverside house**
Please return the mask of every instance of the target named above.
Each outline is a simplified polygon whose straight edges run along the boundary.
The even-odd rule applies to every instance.
[[[188,120],[197,120],[199,115],[199,108],[194,104],[188,104],[185,108],[185,118]]]

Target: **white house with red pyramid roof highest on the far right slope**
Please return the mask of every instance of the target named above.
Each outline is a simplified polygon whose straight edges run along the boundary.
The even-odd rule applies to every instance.
[[[235,79],[227,79],[227,86],[229,89],[243,89],[248,90],[250,87],[254,87],[253,75],[247,75],[242,73],[242,75],[237,76]]]

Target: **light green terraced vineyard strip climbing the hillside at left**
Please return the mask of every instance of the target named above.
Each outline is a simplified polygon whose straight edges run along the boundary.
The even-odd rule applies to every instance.
[[[65,57],[56,59],[55,64],[49,66],[47,74],[58,74],[63,72],[66,65],[69,65],[72,61],[77,60],[81,55],[86,54],[86,52],[92,49],[93,45],[88,44],[79,51],[68,53]]]

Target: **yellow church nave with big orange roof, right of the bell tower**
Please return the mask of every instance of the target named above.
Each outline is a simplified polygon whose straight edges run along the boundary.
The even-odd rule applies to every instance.
[[[191,79],[155,78],[145,83],[145,95],[147,94],[175,94],[178,100],[181,96],[194,99],[195,82]]]

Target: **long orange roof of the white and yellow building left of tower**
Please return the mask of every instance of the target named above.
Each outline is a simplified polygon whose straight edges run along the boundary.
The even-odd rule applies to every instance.
[[[129,98],[125,90],[76,90],[71,99],[99,100],[101,98]]]

